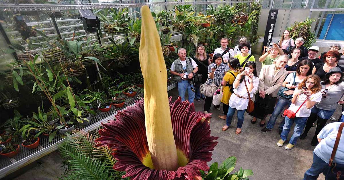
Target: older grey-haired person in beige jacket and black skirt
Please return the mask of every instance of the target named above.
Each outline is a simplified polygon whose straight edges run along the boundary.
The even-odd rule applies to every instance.
[[[287,70],[284,69],[288,60],[289,58],[286,55],[279,56],[273,64],[263,66],[260,71],[258,86],[259,93],[256,93],[255,103],[268,106],[264,119],[260,121],[260,127],[264,127],[266,116],[271,115],[275,109],[278,90],[282,85],[283,80],[288,75]],[[259,112],[260,110],[260,108],[255,108],[251,113],[251,115],[254,116],[251,120],[252,124],[257,122],[257,116],[255,115],[261,114],[261,112]]]

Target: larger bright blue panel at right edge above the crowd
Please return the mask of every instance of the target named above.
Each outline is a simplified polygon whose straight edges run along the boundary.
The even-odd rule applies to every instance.
[[[344,14],[334,14],[325,39],[344,40]]]

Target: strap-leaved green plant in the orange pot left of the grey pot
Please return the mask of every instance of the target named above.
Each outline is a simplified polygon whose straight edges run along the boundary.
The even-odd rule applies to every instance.
[[[49,142],[52,142],[54,139],[57,130],[52,123],[49,122],[48,116],[45,114],[44,111],[41,110],[41,107],[38,107],[38,114],[35,112],[32,113],[33,118],[32,120],[28,121],[29,124],[23,126],[20,129],[20,132],[26,134],[26,137],[31,134],[31,131],[38,131],[36,136],[43,134],[49,137]],[[54,116],[51,117],[54,120]]]

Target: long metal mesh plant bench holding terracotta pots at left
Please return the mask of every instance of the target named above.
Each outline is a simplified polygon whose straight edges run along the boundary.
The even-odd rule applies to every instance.
[[[170,80],[170,83],[168,84],[168,91],[175,88],[177,86],[177,82],[173,79]],[[122,108],[115,108],[114,106],[111,107],[111,110],[108,112],[98,112],[96,116],[91,115],[90,123],[83,127],[80,125],[77,125],[75,123],[75,129],[83,129],[86,132],[90,132],[95,130],[97,127],[101,125],[101,123],[105,123],[109,120],[115,119],[115,115],[118,111],[126,109],[129,106],[134,106],[135,101],[139,100],[141,97],[143,97],[143,93],[138,93],[135,95],[135,97],[126,97],[124,95],[121,95],[121,98],[125,98],[125,105]],[[48,137],[41,135],[40,136],[40,145],[35,149],[28,149],[26,147],[23,147],[20,141],[13,142],[13,144],[18,144],[20,146],[20,152],[18,155],[7,158],[4,156],[0,156],[0,179],[9,175],[10,173],[14,172],[15,170],[18,170],[33,161],[40,159],[41,157],[55,151],[59,144],[63,143],[65,141],[65,135],[63,134],[57,134],[52,142],[48,141]]]

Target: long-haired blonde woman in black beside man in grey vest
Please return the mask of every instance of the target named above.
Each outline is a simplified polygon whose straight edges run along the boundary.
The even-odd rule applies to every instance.
[[[211,64],[210,56],[205,53],[205,48],[204,48],[203,45],[198,45],[197,48],[196,48],[196,54],[195,54],[195,56],[192,59],[197,64],[197,67],[198,67],[197,73],[198,74],[202,74],[202,82],[195,84],[196,100],[197,101],[201,101],[201,98],[203,98],[203,100],[205,100],[205,96],[203,94],[201,94],[201,92],[200,92],[200,86],[201,86],[201,84],[204,84],[207,81],[208,65]]]

